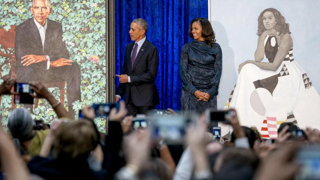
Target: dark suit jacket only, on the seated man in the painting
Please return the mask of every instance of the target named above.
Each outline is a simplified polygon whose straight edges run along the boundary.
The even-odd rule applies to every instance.
[[[16,27],[15,55],[19,69],[22,67],[21,57],[28,54],[48,55],[50,61],[59,58],[69,59],[69,52],[66,44],[62,41],[62,25],[59,22],[47,19],[47,29],[45,31],[44,48],[42,51],[42,42],[39,30],[33,20],[30,18]],[[34,70],[41,71],[47,69],[47,61],[34,63],[30,65]],[[19,70],[17,70],[19,73]]]

